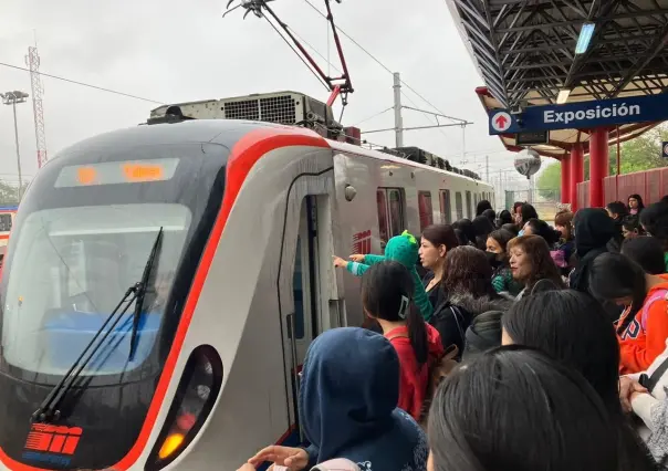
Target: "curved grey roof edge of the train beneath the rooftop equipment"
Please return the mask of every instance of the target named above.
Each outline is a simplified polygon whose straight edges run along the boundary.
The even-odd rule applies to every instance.
[[[71,147],[63,149],[54,158],[49,161],[66,159],[72,163],[86,161],[85,156],[91,153],[105,154],[108,149],[108,155],[118,154],[123,149],[128,149],[137,146],[155,146],[155,145],[177,145],[177,144],[196,144],[210,143],[226,146],[231,149],[237,142],[244,135],[257,129],[290,129],[291,133],[301,132],[307,136],[317,136],[326,142],[327,145],[338,151],[347,154],[356,154],[365,157],[375,158],[384,161],[392,161],[400,165],[408,165],[415,168],[424,168],[430,171],[439,171],[453,177],[468,179],[479,185],[489,185],[481,180],[476,180],[471,177],[459,175],[452,171],[431,167],[417,161],[408,160],[398,156],[382,153],[378,150],[365,149],[347,143],[337,140],[328,140],[320,136],[315,132],[295,126],[285,126],[273,123],[263,123],[255,121],[236,121],[236,119],[186,119],[175,123],[161,123],[152,125],[140,125],[125,129],[118,129],[111,133],[101,134],[95,137],[82,140]],[[104,160],[104,155],[101,156]],[[62,160],[61,160],[62,161]],[[49,163],[48,163],[49,165]]]

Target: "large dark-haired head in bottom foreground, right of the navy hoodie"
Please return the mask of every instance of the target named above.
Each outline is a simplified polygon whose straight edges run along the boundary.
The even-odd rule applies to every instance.
[[[525,347],[482,354],[451,374],[429,414],[429,471],[647,471],[576,370]]]

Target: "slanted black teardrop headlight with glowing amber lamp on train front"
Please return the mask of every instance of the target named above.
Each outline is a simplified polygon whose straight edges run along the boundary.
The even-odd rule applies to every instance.
[[[167,420],[146,463],[157,471],[173,462],[197,436],[222,385],[222,362],[209,345],[197,347],[179,381]]]

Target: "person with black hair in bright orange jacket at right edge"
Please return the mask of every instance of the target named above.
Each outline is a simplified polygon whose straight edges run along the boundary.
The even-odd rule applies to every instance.
[[[619,253],[603,253],[589,272],[594,296],[625,305],[617,323],[619,373],[645,371],[666,349],[668,274],[653,275]]]

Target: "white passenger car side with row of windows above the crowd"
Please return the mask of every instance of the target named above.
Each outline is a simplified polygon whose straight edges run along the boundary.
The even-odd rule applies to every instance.
[[[460,217],[472,219],[479,200],[493,199],[493,187],[488,184],[422,165],[410,165],[400,159],[384,160],[365,154],[338,151],[334,155],[334,166],[341,245],[346,250],[345,253],[337,254],[342,258],[352,253],[382,254],[385,239],[404,230],[419,236],[421,221],[426,220],[420,210],[420,198],[426,195],[430,197],[432,223],[455,221]],[[355,189],[352,201],[346,199],[346,187]],[[441,191],[445,195],[446,190],[450,198],[441,199]],[[467,207],[467,191],[470,192],[470,208]],[[458,193],[461,197],[461,214],[458,214],[456,205]],[[397,205],[390,207],[383,198],[387,200],[395,195],[400,200],[398,213],[393,217],[393,209]],[[386,228],[382,230],[383,217]],[[395,224],[388,224],[388,220],[393,218],[398,220],[398,226],[394,228],[392,226]],[[347,325],[362,325],[364,313],[359,279],[346,272],[344,285]]]

